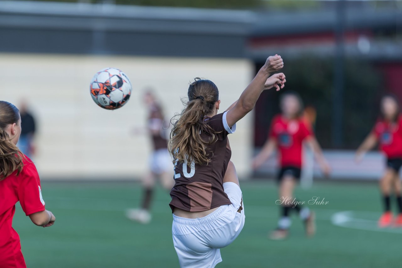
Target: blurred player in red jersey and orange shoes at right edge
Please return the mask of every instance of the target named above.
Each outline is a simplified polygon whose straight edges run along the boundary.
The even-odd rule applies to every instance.
[[[399,170],[402,166],[402,117],[399,112],[398,100],[392,95],[384,96],[381,99],[380,118],[356,152],[356,161],[359,162],[378,141],[381,151],[387,157],[386,170],[379,181],[384,200],[384,214],[378,220],[379,227],[388,227],[393,223],[395,226],[402,227],[402,186],[399,178]],[[390,204],[392,190],[399,210],[395,221]]]

